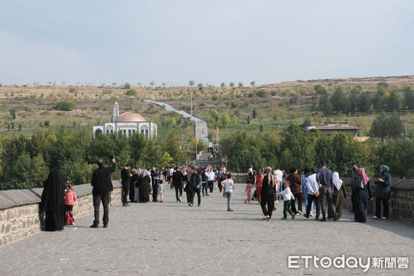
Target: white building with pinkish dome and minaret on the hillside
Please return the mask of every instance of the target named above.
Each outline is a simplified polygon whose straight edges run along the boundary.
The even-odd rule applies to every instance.
[[[146,121],[144,117],[135,112],[125,112],[119,115],[119,106],[115,101],[112,106],[112,121],[104,121],[101,126],[93,126],[93,137],[97,137],[99,133],[107,135],[115,132],[129,137],[137,131],[148,139],[153,139],[157,137],[157,124]]]

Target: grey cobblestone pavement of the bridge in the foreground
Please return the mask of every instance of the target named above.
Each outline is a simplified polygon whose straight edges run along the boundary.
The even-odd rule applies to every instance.
[[[398,221],[320,222],[299,217],[282,221],[282,204],[272,221],[262,221],[257,201],[244,204],[236,186],[232,207],[218,190],[201,206],[164,203],[111,206],[108,228],[89,228],[92,214],[76,226],[6,244],[0,275],[413,275],[414,226]],[[197,196],[196,196],[197,197]],[[183,201],[186,201],[185,196]],[[408,269],[288,268],[288,255],[408,257]],[[372,264],[371,264],[372,265]]]

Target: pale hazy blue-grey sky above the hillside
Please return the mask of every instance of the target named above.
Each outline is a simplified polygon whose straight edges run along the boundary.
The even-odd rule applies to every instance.
[[[414,1],[2,1],[0,83],[414,74]]]

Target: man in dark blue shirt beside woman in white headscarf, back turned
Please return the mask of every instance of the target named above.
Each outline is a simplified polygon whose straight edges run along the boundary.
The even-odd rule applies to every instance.
[[[337,221],[335,215],[335,204],[333,204],[333,181],[332,171],[326,168],[326,161],[319,161],[319,170],[316,173],[316,180],[319,184],[319,204],[322,209],[322,219],[320,221],[326,221],[326,200],[328,201],[328,208],[331,209],[333,214],[333,221]]]

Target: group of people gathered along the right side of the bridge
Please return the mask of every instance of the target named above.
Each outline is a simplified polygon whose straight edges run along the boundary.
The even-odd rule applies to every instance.
[[[387,219],[389,215],[388,199],[391,197],[391,175],[386,165],[380,166],[380,173],[375,177],[375,195],[371,188],[371,179],[366,175],[364,168],[358,168],[354,162],[351,165],[351,202],[354,220],[366,222],[366,206],[368,200],[375,197],[375,216],[373,219]],[[255,186],[253,198],[257,198],[262,206],[263,219],[270,220],[275,204],[279,199],[284,201],[283,217],[287,214],[295,219],[296,215],[303,215],[307,219],[337,221],[342,217],[344,198],[348,197],[342,179],[338,172],[332,172],[326,168],[326,162],[320,161],[319,168],[306,167],[302,172],[292,167],[289,174],[277,167],[274,171],[270,167],[249,169],[246,192],[248,198],[244,201],[250,203],[249,190]],[[250,192],[251,193],[251,192]],[[296,208],[297,201],[297,208]],[[302,210],[304,201],[305,212]],[[381,202],[383,203],[383,215],[381,216]],[[315,205],[315,208],[314,208]],[[326,210],[328,212],[326,212]]]

